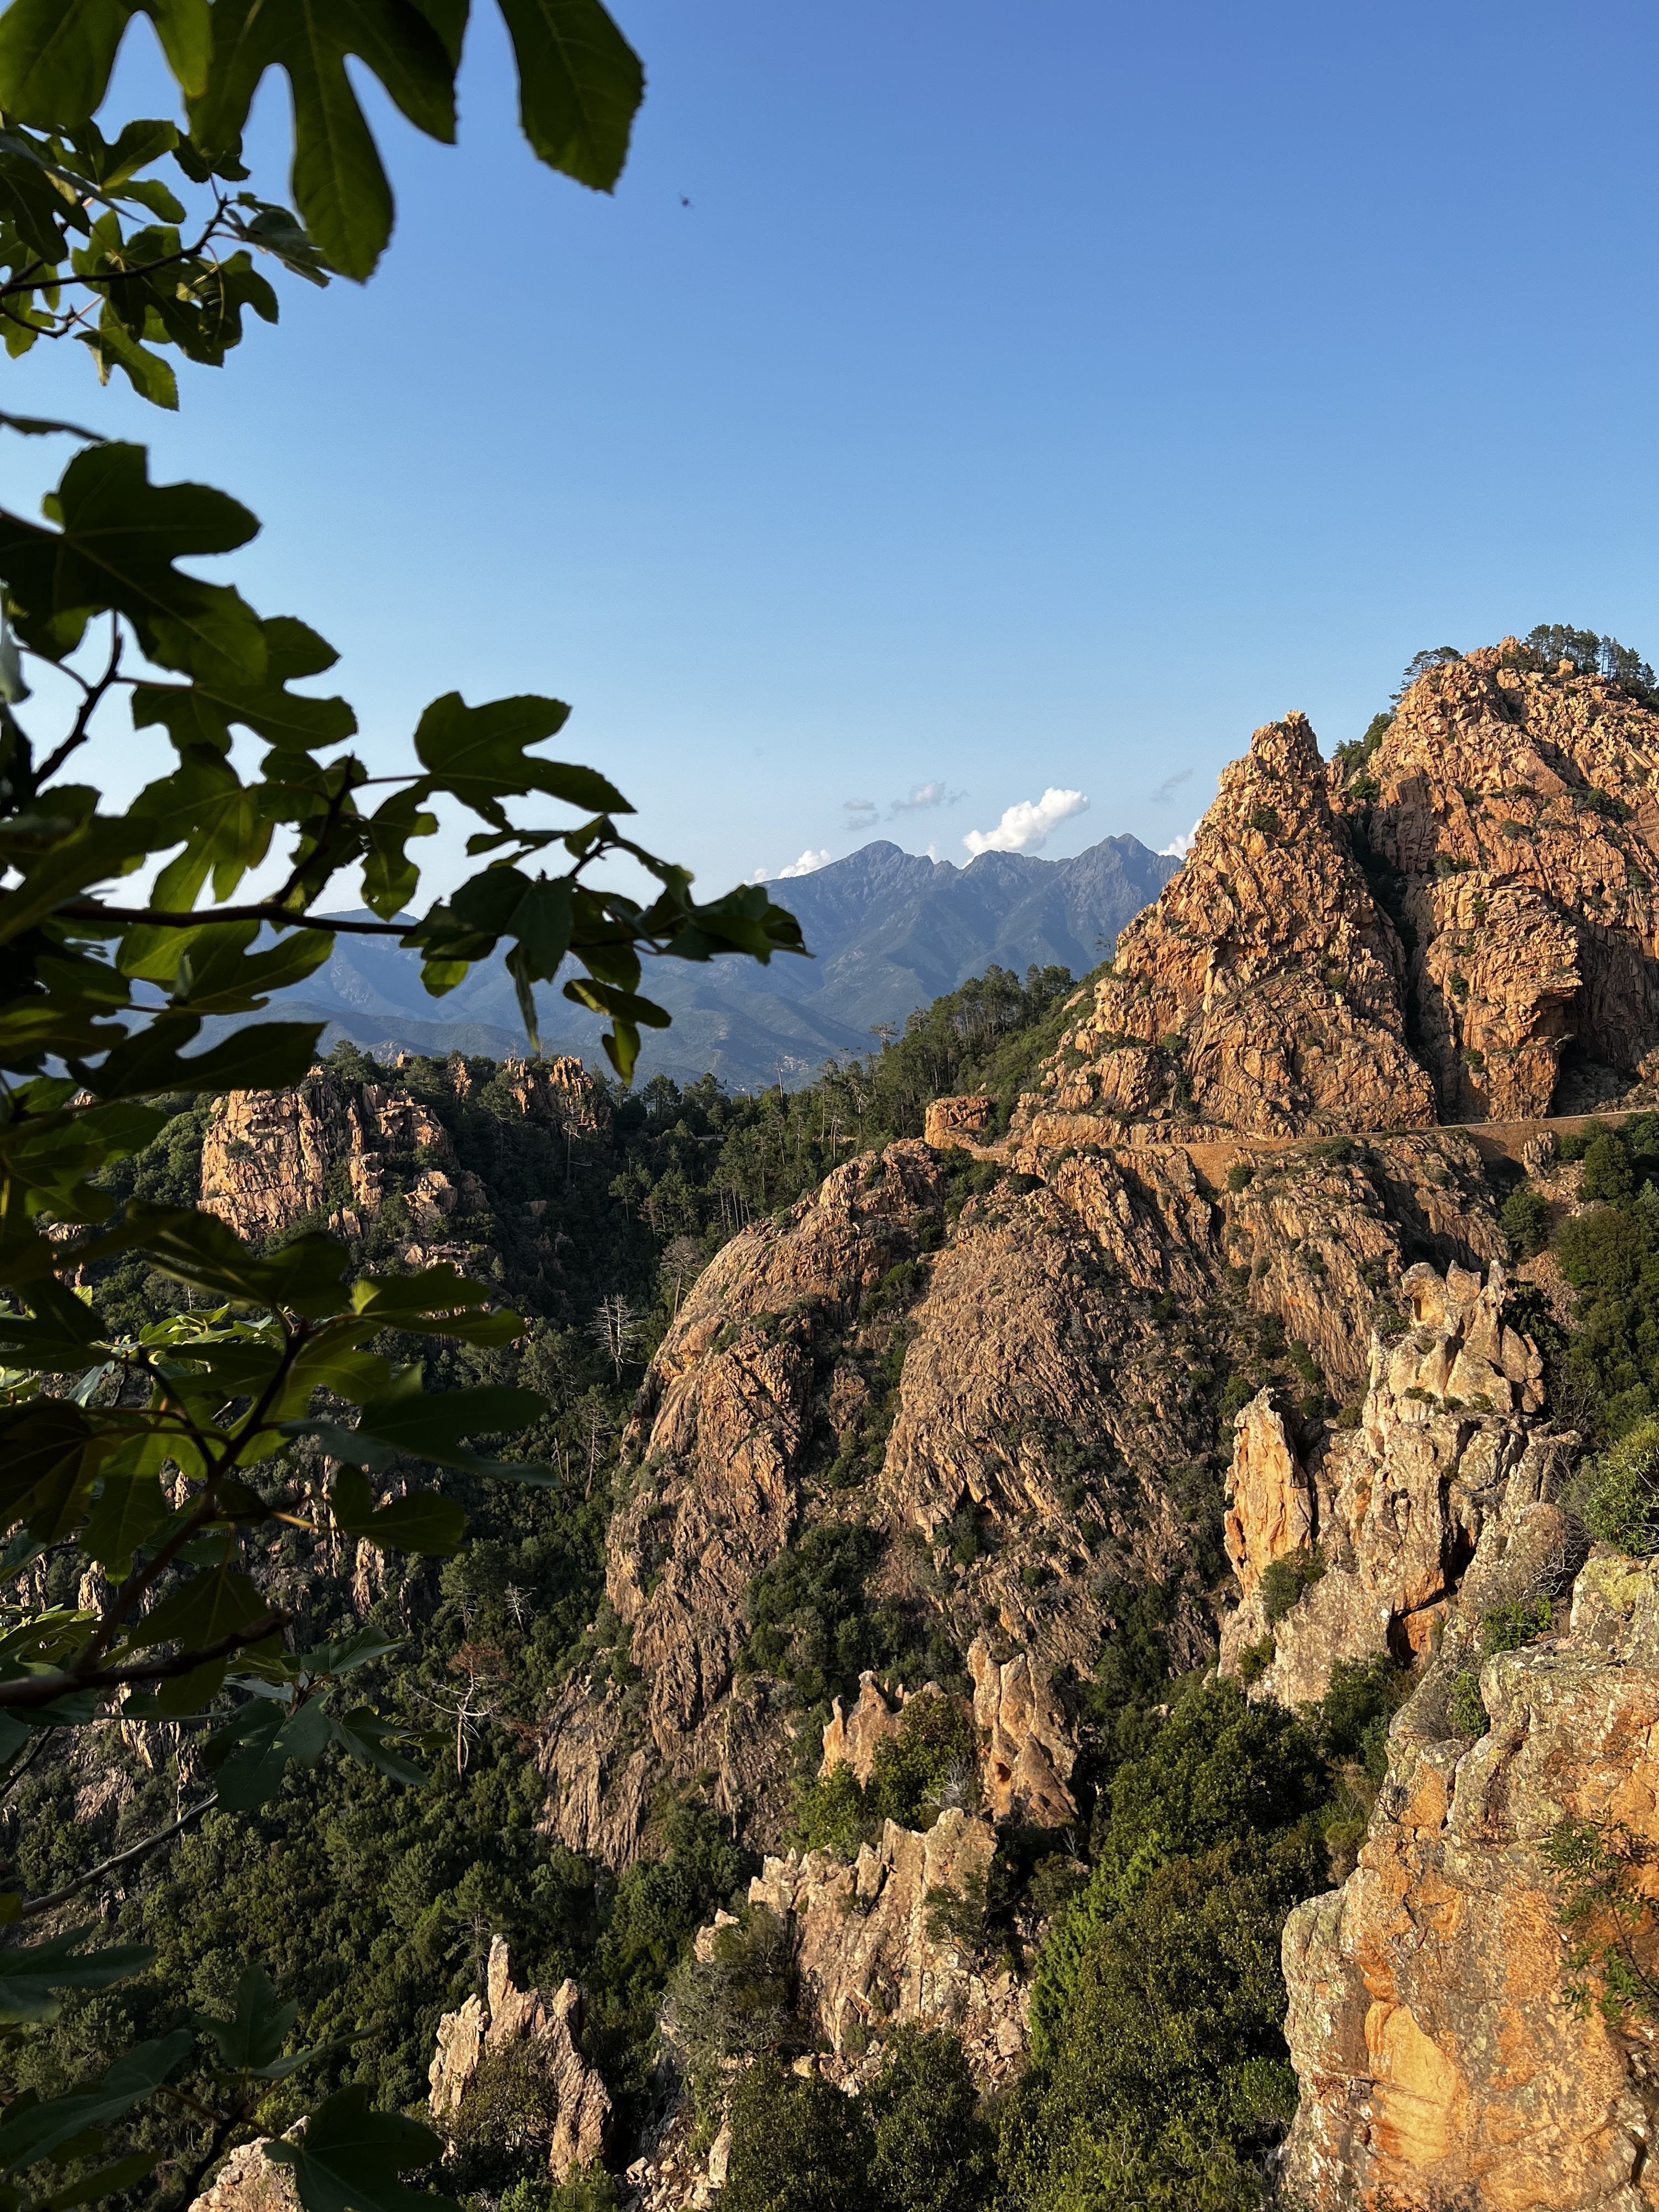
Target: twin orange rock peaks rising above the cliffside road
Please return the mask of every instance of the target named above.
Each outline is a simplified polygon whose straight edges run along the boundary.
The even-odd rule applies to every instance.
[[[1018,1126],[1422,1128],[1652,1075],[1659,714],[1515,659],[1431,670],[1363,772],[1256,730]]]

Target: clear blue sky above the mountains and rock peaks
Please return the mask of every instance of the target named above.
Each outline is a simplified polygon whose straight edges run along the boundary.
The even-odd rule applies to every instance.
[[[223,573],[343,648],[383,765],[436,692],[557,692],[714,889],[960,863],[1046,790],[1091,803],[1029,849],[1168,845],[1256,723],[1329,750],[1420,646],[1659,657],[1650,7],[617,18],[613,199],[531,161],[480,4],[460,148],[380,104],[367,288],[285,283],[177,418],[9,369],[263,515]]]

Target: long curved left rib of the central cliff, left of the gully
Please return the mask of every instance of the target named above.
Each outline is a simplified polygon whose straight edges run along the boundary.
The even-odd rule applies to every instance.
[[[787,1223],[743,1230],[688,1292],[639,1394],[608,1537],[608,1597],[644,1697],[628,1708],[577,1679],[544,1734],[549,1820],[573,1849],[602,1832],[622,1843],[608,1776],[639,1754],[659,1772],[712,1772],[723,1812],[770,1798],[781,1818],[787,1728],[763,1694],[734,1690],[743,1597],[794,1533],[814,1438],[834,1433],[836,1347],[938,1199],[931,1152],[894,1144],[838,1168]]]

